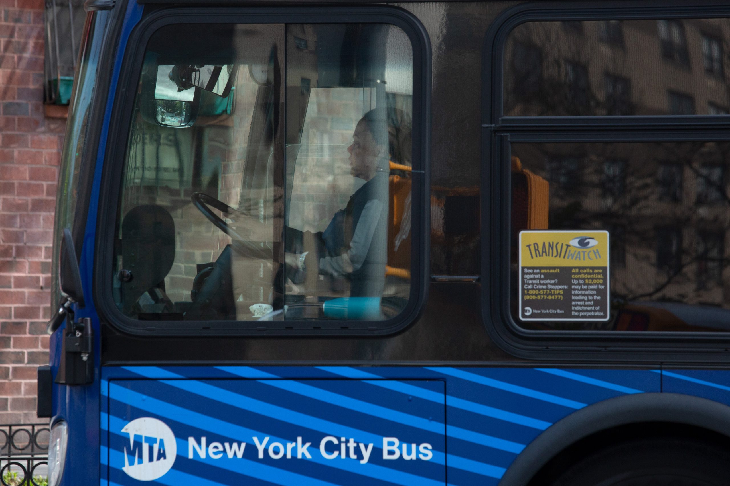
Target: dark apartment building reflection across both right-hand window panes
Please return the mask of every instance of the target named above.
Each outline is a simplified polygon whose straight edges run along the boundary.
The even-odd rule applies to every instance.
[[[723,18],[524,23],[504,50],[504,116],[726,115],[728,39]],[[611,254],[608,323],[528,324],[513,309],[515,322],[730,331],[729,143],[513,143],[511,154],[513,272],[527,229],[515,160],[548,183],[544,229],[608,230]]]

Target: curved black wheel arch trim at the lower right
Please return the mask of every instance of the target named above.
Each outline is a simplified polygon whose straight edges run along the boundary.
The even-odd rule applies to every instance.
[[[678,434],[730,439],[730,407],[725,404],[679,393],[619,396],[577,410],[547,428],[520,452],[499,486],[534,484],[551,462],[591,436],[658,423],[675,425]]]

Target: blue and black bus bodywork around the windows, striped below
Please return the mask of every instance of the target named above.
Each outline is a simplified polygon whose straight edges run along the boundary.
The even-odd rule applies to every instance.
[[[312,2],[333,10],[339,4],[355,3]],[[680,3],[676,7],[683,7]],[[280,4],[291,5],[275,0],[216,2],[226,8],[277,8]],[[297,7],[307,4],[296,2]],[[431,128],[426,134],[431,222],[425,270],[433,277],[419,317],[404,329],[372,337],[273,336],[264,330],[261,335],[246,336],[155,336],[155,329],[164,322],[147,321],[147,328],[136,334],[115,325],[116,315],[104,315],[98,303],[108,297],[98,295],[99,289],[106,288],[98,281],[99,259],[110,255],[100,251],[108,246],[96,239],[105,233],[99,226],[114,224],[116,201],[107,204],[114,206],[107,213],[97,213],[97,206],[109,190],[103,184],[110,179],[101,176],[102,170],[109,170],[105,156],[107,160],[112,156],[105,148],[116,143],[107,139],[110,122],[113,125],[110,117],[112,112],[128,109],[114,106],[115,90],[122,89],[117,85],[122,61],[131,50],[126,42],[134,25],[147,15],[200,5],[199,1],[147,0],[139,5],[118,1],[112,17],[115,23],[108,27],[120,41],[107,39],[105,46],[108,66],[104,68],[111,74],[110,79],[100,78],[100,91],[103,94],[108,87],[110,93],[106,103],[99,101],[94,107],[94,119],[102,121],[90,129],[88,139],[94,146],[87,149],[93,154],[85,154],[82,172],[91,176],[88,185],[80,187],[77,205],[86,218],[85,229],[74,227],[87,296],[85,309],[77,310],[76,317],[90,317],[93,322],[95,376],[91,385],[53,385],[52,423],[68,423],[70,436],[61,485],[99,481],[127,485],[153,477],[139,468],[142,472],[135,472],[128,464],[134,458],[133,466],[137,466],[137,429],[128,427],[134,420],[148,418],[172,429],[177,444],[174,466],[159,454],[161,442],[145,452],[145,458],[157,455],[172,468],[153,479],[150,484],[154,485],[215,480],[210,484],[527,486],[548,484],[541,481],[555,479],[558,469],[602,447],[634,439],[679,438],[725,447],[730,436],[726,337],[675,333],[674,337],[662,334],[661,339],[666,339],[661,341],[652,333],[639,333],[639,337],[623,333],[615,339],[606,333],[594,339],[590,333],[558,331],[540,337],[515,331],[517,326],[503,320],[510,314],[503,308],[509,307],[509,292],[497,291],[496,286],[510,275],[495,270],[502,264],[498,260],[504,239],[496,234],[499,225],[492,217],[509,232],[504,216],[509,210],[497,213],[493,209],[499,184],[506,180],[499,179],[503,174],[493,171],[493,166],[509,152],[510,136],[515,140],[523,136],[529,142],[539,136],[528,133],[530,129],[519,122],[513,122],[509,130],[491,132],[501,129],[494,127],[499,120],[493,116],[492,102],[502,99],[501,93],[492,94],[501,87],[502,77],[497,72],[501,67],[492,62],[491,49],[499,34],[493,22],[512,16],[506,12],[517,15],[542,6],[575,12],[580,2],[524,7],[520,2],[493,1],[378,4],[410,12],[423,24],[431,42]],[[614,5],[623,12],[634,3],[586,2],[585,10]],[[664,7],[656,2],[646,5],[642,15]],[[715,5],[723,16],[730,16],[730,9],[719,3],[705,5],[705,10]],[[673,7],[669,5],[666,12]],[[558,15],[556,20],[564,19]],[[667,128],[669,123],[658,130],[658,137],[676,135]],[[595,134],[600,129],[585,136],[590,129],[579,125],[571,128],[577,139],[593,141],[604,136]],[[726,129],[721,124],[715,127],[718,133]],[[535,131],[540,130],[546,139],[553,135],[550,128]],[[617,129],[605,138],[623,140],[632,130],[620,133]],[[117,144],[123,146],[123,142]],[[485,213],[485,209],[495,212]],[[77,226],[80,221],[77,216]],[[499,300],[503,298],[504,302]],[[63,328],[51,338],[54,374],[64,356],[62,332]],[[277,437],[295,441],[299,436],[312,442],[310,451],[315,455],[320,440],[330,434],[342,442],[349,434],[347,439],[352,436],[362,445],[372,443],[372,461],[345,461],[345,466],[337,463],[339,459],[297,461],[296,447],[295,458],[278,459],[272,449],[257,455],[252,442],[252,436],[257,440],[271,436],[272,442]],[[226,458],[223,449],[222,460],[214,460],[215,449],[208,449],[206,458],[204,436],[209,445],[247,442],[242,452],[246,466],[236,463],[235,452]],[[430,449],[423,449],[419,460],[383,460],[385,443],[378,441],[385,436],[400,436],[402,442],[409,442],[404,446],[414,442],[414,451],[416,442],[430,442],[429,462],[420,459],[428,457],[425,451]],[[170,450],[169,443],[166,448]]]

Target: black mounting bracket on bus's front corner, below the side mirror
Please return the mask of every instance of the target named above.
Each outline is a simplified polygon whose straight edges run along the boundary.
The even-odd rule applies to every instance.
[[[58,367],[55,383],[86,385],[93,382],[93,333],[91,319],[82,318],[66,326],[64,355]]]

